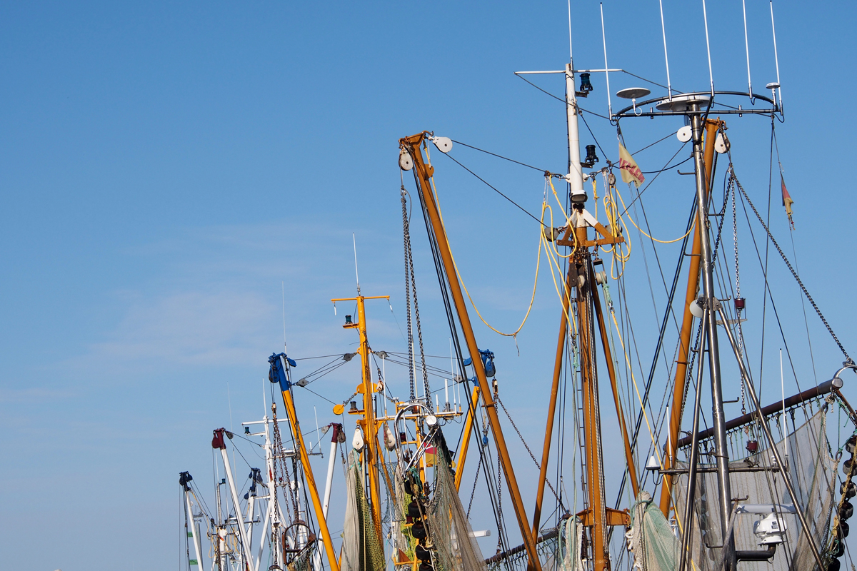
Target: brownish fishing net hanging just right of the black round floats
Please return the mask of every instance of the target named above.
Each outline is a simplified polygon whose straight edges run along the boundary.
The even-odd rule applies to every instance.
[[[442,571],[487,571],[482,550],[445,461],[434,466],[434,496],[428,506],[428,529],[434,542],[434,568]]]

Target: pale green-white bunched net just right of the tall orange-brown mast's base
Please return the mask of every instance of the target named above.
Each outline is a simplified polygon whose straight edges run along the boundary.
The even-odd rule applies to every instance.
[[[631,530],[626,533],[633,551],[635,569],[673,571],[678,568],[681,545],[667,518],[652,502],[647,491],[641,491],[631,510]]]

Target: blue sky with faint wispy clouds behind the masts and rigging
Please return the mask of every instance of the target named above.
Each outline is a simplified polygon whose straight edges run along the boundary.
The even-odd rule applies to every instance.
[[[716,88],[743,91],[741,3],[709,4]],[[708,89],[701,3],[664,0],[663,6],[672,85]],[[764,93],[776,80],[769,3],[748,0],[746,9],[752,83]],[[857,277],[849,99],[857,92],[851,73],[857,9],[848,2],[782,0],[774,9],[786,108],[776,133],[795,200],[794,252],[776,167],[772,229],[857,354],[857,301],[849,287]],[[572,11],[576,67],[602,68],[598,3],[574,2]],[[604,18],[609,67],[665,83],[657,3],[607,2]],[[261,416],[267,355],[283,346],[284,291],[290,356],[353,350],[353,332],[339,327],[345,311],[340,306],[334,316],[329,302],[354,294],[352,232],[363,293],[393,296],[393,314],[384,302],[370,306],[373,347],[405,350],[399,137],[434,130],[561,172],[563,105],[512,72],[560,69],[567,58],[562,2],[3,3],[2,566],[178,565],[177,473],[198,474],[201,490],[211,493],[211,430],[239,430],[240,421]],[[560,76],[534,81],[563,94]],[[584,107],[604,114],[603,76],[592,81],[596,91]],[[611,76],[612,92],[636,84],[664,92]],[[598,166],[615,161],[615,129],[596,116],[587,120],[603,147]],[[766,207],[770,121],[728,122],[736,172]],[[622,123],[632,152],[680,126],[678,119]],[[582,132],[582,144],[592,139]],[[641,152],[638,163],[661,169],[679,147],[665,140]],[[463,146],[452,154],[538,213],[540,173]],[[514,330],[530,299],[538,227],[440,153],[433,159],[464,281],[494,326]],[[405,184],[413,188],[412,180]],[[674,170],[644,195],[657,237],[681,235],[691,197],[692,178]],[[446,320],[422,221],[415,222],[427,352],[444,355]],[[746,232],[739,239],[750,243]],[[635,272],[628,296],[647,370],[665,295],[652,252],[643,252],[642,246],[632,252],[627,271]],[[748,318],[758,326],[758,261],[747,252]],[[658,253],[669,280],[677,250]],[[770,265],[775,298],[782,294],[778,309],[792,320],[794,377],[806,388],[816,377],[829,378],[842,354],[807,306],[813,377],[800,298],[776,254]],[[512,340],[482,324],[476,330],[480,345],[498,355],[500,396],[524,437],[539,443],[535,449],[558,318],[543,265],[533,312],[518,337],[519,357]],[[773,383],[782,346],[776,321],[768,322],[768,332],[773,341],[764,363]],[[760,344],[760,336],[748,338],[756,367]],[[796,390],[794,377],[787,376],[787,393]],[[314,386],[342,401],[358,378],[356,365],[344,366]],[[405,395],[405,372],[391,371],[390,379]],[[658,395],[665,380],[659,382]],[[725,391],[727,399],[738,396],[734,375]],[[850,386],[846,395],[857,401]],[[326,401],[298,398],[305,423],[315,425],[312,407],[320,424],[333,421]],[[602,407],[610,412],[609,401]],[[730,417],[739,413],[731,407]],[[535,472],[509,428],[522,477],[530,481]],[[605,433],[615,436],[611,427]],[[319,460],[321,473],[325,463]],[[615,488],[608,493],[614,495]],[[490,519],[474,523],[480,525]]]

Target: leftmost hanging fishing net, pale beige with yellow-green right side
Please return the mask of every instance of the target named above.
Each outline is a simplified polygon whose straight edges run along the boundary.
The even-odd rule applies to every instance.
[[[342,543],[343,571],[381,571],[385,568],[384,550],[372,523],[372,508],[363,493],[363,468],[360,456],[351,451],[346,472],[348,496]]]

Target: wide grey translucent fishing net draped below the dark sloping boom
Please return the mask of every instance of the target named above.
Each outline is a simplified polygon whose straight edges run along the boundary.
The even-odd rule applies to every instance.
[[[788,496],[778,471],[729,474],[732,497],[740,498],[740,503],[775,503],[783,506],[795,504],[802,507],[809,532],[819,550],[822,551],[830,525],[838,465],[838,462],[830,457],[825,420],[826,411],[822,408],[788,435],[788,473],[797,498]],[[763,447],[764,442],[759,442],[758,451],[755,454],[749,455],[743,461],[730,462],[730,468],[776,467],[776,461],[770,449]],[[785,455],[785,441],[780,441],[776,447],[781,455]],[[714,464],[700,466],[715,467]],[[688,465],[685,462],[677,462],[676,467],[686,469]],[[687,476],[684,474],[674,479],[674,505],[678,506],[679,514],[684,513],[686,495]],[[718,505],[716,473],[698,474],[690,544],[694,568],[700,571],[719,571],[720,569],[722,532]],[[761,516],[737,514],[734,517],[735,549],[764,550],[759,546],[758,538],[753,533],[753,524]],[[808,571],[815,567],[812,550],[806,535],[801,530],[797,515],[785,513],[782,514],[782,519],[788,529],[784,534],[784,542],[777,545],[776,554],[771,562],[742,561],[740,562],[742,570]]]

